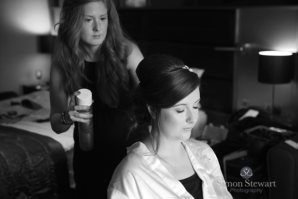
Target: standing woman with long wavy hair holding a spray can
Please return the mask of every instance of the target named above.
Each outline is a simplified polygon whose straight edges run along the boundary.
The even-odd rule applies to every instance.
[[[58,25],[50,73],[52,129],[62,133],[75,124],[76,196],[105,198],[111,175],[130,146],[125,142],[129,122],[125,111],[143,55],[123,33],[112,0],[64,0]],[[93,114],[76,112],[89,109],[75,104],[81,88],[92,92]],[[83,151],[77,122],[89,123],[91,117],[94,148]]]

